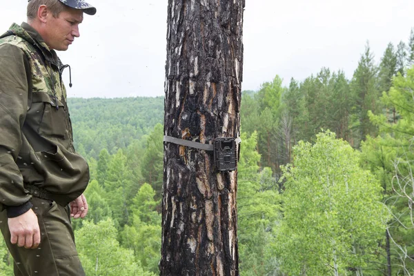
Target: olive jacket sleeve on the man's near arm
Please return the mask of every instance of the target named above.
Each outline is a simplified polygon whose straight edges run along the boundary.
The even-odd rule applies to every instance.
[[[30,65],[20,48],[0,46],[0,210],[17,217],[31,207],[16,164],[21,150],[21,127],[28,109]]]

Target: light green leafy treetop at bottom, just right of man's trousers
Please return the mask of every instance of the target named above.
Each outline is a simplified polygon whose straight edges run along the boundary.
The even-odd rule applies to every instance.
[[[83,227],[75,231],[75,237],[86,275],[155,276],[135,262],[132,250],[119,246],[117,228],[111,219],[98,224],[85,221]]]

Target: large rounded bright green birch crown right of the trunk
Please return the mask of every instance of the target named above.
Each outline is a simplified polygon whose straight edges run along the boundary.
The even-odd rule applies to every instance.
[[[284,219],[275,229],[282,270],[292,275],[363,270],[377,259],[385,231],[380,184],[333,132],[319,133],[314,145],[299,142],[294,152],[295,166],[283,168]]]

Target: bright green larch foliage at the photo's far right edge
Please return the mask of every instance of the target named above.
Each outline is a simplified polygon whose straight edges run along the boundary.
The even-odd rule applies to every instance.
[[[414,273],[412,215],[408,212],[413,184],[411,171],[413,164],[414,135],[414,68],[408,69],[406,77],[397,75],[388,93],[384,92],[382,102],[388,110],[398,115],[390,119],[388,112],[373,115],[370,119],[378,126],[380,135],[368,139],[362,145],[363,166],[375,172],[384,188],[384,202],[393,214],[388,221],[391,237],[391,259],[393,270]],[[404,269],[402,269],[404,268]],[[409,274],[404,274],[409,275]]]

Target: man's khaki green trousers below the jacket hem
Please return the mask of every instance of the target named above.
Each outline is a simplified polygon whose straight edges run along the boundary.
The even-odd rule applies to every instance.
[[[39,220],[41,241],[36,249],[10,243],[6,210],[0,212],[0,230],[14,259],[16,276],[83,276],[70,224],[69,206],[33,197],[32,210]]]

